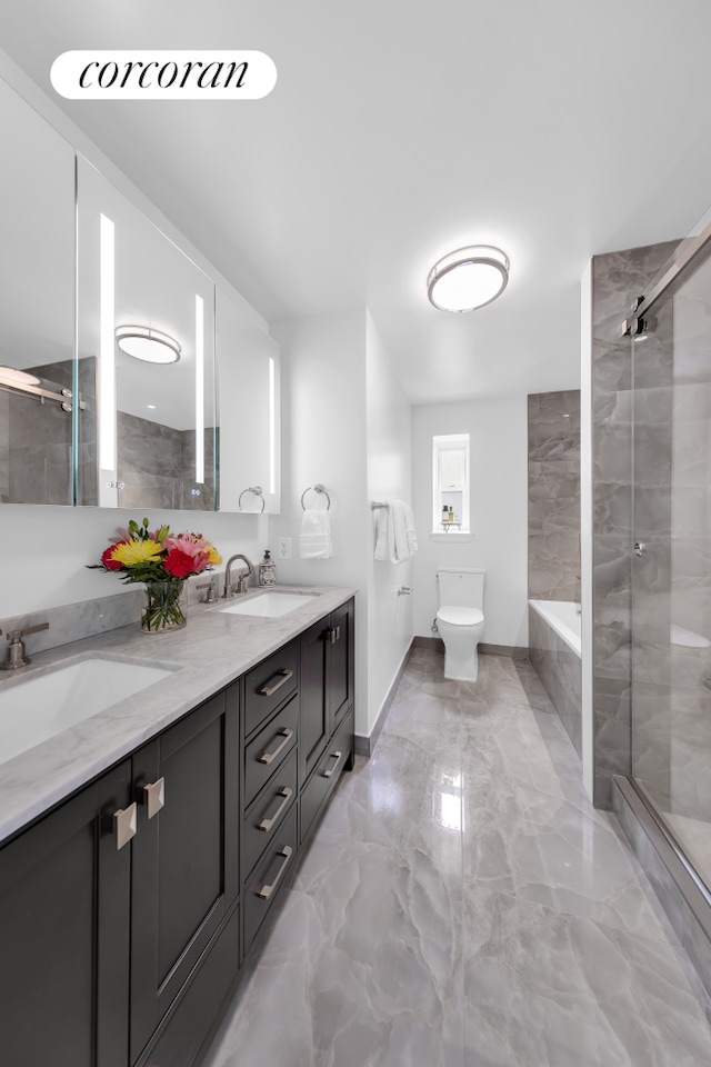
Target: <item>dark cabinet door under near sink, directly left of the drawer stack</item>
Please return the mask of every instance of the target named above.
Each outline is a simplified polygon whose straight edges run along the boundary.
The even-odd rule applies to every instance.
[[[131,1063],[238,895],[239,701],[218,694],[133,757]],[[217,997],[216,1011],[221,995]]]

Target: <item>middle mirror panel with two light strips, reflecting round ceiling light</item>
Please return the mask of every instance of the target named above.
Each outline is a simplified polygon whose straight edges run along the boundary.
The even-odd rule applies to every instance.
[[[214,285],[82,157],[77,203],[77,502],[214,510]]]

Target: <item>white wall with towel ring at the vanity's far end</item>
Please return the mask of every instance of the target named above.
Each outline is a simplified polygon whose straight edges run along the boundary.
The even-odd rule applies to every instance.
[[[277,559],[279,581],[354,586],[356,731],[368,732],[367,545],[370,509],[365,480],[365,310],[277,322],[281,348],[281,513],[269,519],[277,559],[280,537],[293,558]],[[300,559],[301,495],[320,482],[331,498],[331,559]],[[321,507],[310,492],[306,502]]]

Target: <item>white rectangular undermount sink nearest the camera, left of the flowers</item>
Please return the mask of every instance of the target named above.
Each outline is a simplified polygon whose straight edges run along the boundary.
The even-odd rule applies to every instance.
[[[92,656],[14,685],[9,685],[14,674],[7,681],[0,678],[0,764],[171,674],[162,667]]]

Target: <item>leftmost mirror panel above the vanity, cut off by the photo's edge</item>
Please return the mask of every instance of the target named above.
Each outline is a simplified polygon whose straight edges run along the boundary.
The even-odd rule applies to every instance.
[[[0,80],[0,501],[72,503],[74,152]]]

